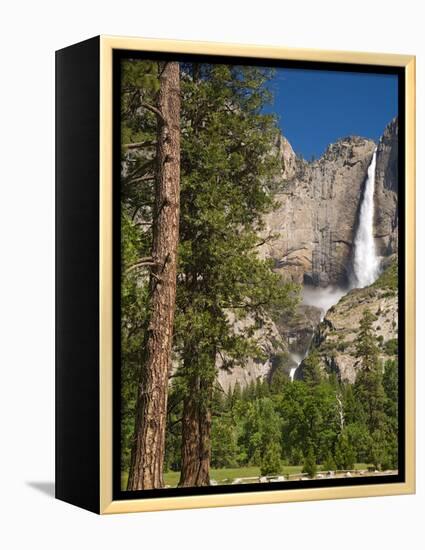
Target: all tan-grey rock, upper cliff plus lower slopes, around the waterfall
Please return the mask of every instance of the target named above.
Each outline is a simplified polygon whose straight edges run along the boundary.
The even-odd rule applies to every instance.
[[[387,126],[378,146],[370,139],[351,136],[331,144],[314,162],[298,158],[283,136],[277,147],[282,161],[276,195],[279,207],[265,219],[265,236],[275,238],[261,247],[260,254],[273,259],[275,270],[284,279],[323,287],[316,289],[320,292],[338,294],[341,287],[348,287],[359,208],[367,170],[377,148],[374,236],[378,255],[383,257],[381,266],[388,266],[398,246],[397,119]],[[305,286],[305,290],[309,288],[314,290]],[[352,290],[322,322],[318,307],[298,306],[292,319],[276,322],[271,337],[270,332],[263,335],[265,361],[249,359],[243,367],[219,368],[219,383],[227,391],[236,382],[243,387],[269,377],[274,357],[282,351],[287,355],[285,369],[289,372],[304,357],[313,337],[324,368],[336,372],[342,380],[354,382],[361,367],[355,358],[354,339],[366,308],[379,314],[374,328],[382,343],[396,338],[396,294],[375,285]],[[295,378],[302,379],[302,363]]]

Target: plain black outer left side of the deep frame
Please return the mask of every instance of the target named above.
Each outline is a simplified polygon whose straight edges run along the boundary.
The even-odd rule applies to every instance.
[[[95,37],[56,52],[55,159],[55,496],[97,513],[99,46]]]

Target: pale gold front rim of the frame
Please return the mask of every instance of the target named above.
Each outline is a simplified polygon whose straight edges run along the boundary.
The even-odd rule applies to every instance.
[[[402,67],[405,71],[405,464],[406,481],[216,495],[112,498],[112,56],[113,50],[191,53]],[[100,513],[142,512],[409,494],[415,492],[415,57],[214,42],[100,37],[99,391]]]

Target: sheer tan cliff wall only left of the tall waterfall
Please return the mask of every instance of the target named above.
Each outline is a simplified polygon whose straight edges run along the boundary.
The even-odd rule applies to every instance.
[[[266,220],[277,234],[265,255],[276,270],[297,283],[344,285],[373,141],[345,138],[313,163],[296,159],[284,175],[279,208]]]

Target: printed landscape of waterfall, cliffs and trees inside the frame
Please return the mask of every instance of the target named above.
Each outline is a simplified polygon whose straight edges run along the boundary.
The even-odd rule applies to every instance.
[[[121,490],[396,476],[398,76],[118,72]]]

